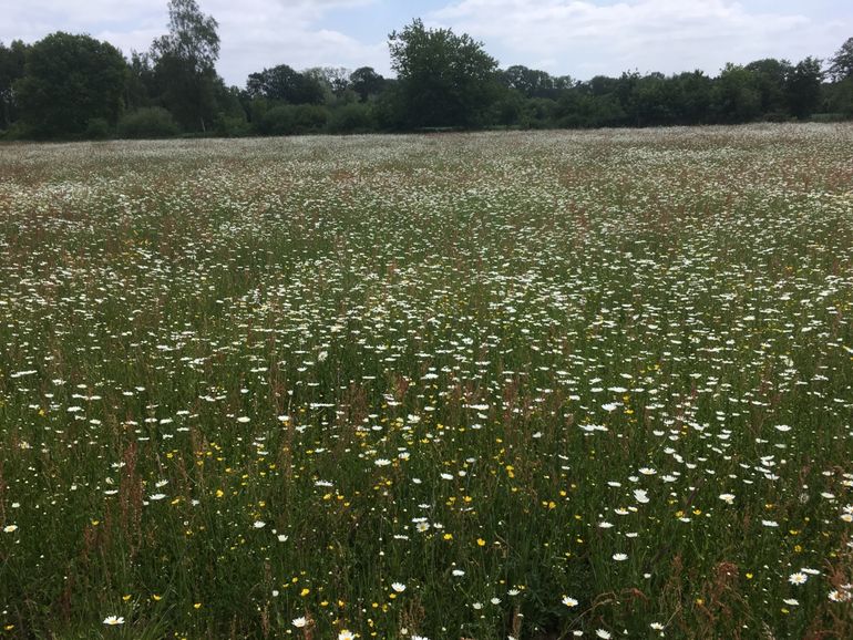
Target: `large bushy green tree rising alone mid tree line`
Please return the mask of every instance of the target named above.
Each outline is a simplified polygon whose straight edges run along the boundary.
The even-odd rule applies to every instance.
[[[497,61],[481,42],[414,20],[392,32],[388,44],[408,126],[472,126],[482,121],[496,96]]]

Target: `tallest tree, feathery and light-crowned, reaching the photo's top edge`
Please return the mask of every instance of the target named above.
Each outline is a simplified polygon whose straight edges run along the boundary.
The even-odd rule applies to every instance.
[[[196,0],[169,0],[168,33],[151,45],[158,101],[188,130],[206,131],[216,112],[218,27]]]

